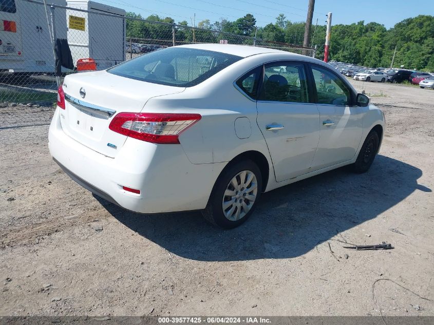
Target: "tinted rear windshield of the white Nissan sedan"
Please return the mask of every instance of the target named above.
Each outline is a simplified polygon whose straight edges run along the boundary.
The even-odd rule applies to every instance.
[[[174,47],[140,55],[107,71],[155,84],[192,87],[241,59],[220,52]]]

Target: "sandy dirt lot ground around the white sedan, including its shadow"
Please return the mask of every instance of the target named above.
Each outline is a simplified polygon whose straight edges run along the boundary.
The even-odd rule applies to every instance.
[[[125,212],[51,160],[48,125],[0,129],[0,315],[434,315],[434,91],[355,86],[387,119],[369,173],[274,190],[232,231]]]

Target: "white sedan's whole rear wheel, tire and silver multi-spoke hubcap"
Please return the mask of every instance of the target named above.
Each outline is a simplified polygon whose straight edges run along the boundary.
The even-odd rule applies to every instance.
[[[252,214],[261,188],[262,175],[253,161],[229,165],[218,177],[202,215],[222,228],[237,227]]]

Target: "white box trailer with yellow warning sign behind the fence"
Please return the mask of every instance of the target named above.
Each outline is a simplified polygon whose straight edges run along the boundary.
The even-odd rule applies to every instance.
[[[125,61],[125,10],[88,0],[67,4],[70,8],[92,11],[66,10],[68,43],[75,66],[78,59],[85,58],[95,60],[97,70]]]

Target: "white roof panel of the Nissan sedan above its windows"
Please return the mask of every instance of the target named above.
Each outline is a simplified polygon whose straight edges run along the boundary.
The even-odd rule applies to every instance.
[[[294,56],[302,56],[300,54],[295,54],[287,51],[281,51],[276,49],[270,49],[265,47],[248,46],[248,45],[234,45],[234,44],[186,44],[177,47],[187,47],[200,50],[208,50],[221,52],[226,54],[232,54],[241,56],[242,58],[247,58],[251,55],[262,54],[262,53],[286,53],[292,54]]]

